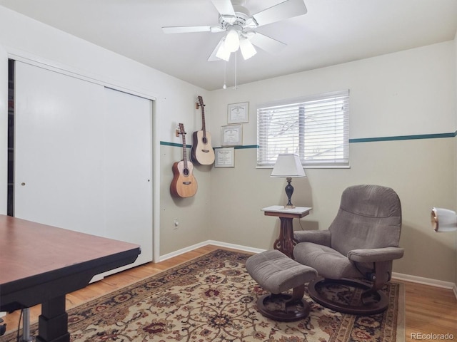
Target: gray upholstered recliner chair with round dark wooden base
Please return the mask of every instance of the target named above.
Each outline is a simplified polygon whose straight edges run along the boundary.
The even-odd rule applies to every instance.
[[[393,260],[403,257],[400,232],[401,203],[395,191],[378,185],[348,187],[328,230],[294,233],[295,260],[320,276],[308,284],[311,298],[348,314],[386,310],[388,299],[381,289],[391,280]],[[324,296],[334,283],[361,292],[359,299],[341,303]]]

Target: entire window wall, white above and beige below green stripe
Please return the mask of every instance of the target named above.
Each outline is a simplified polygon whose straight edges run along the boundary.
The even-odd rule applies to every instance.
[[[448,41],[338,66],[272,78],[211,93],[214,112],[228,103],[248,101],[250,120],[243,125],[243,145],[256,145],[256,105],[271,100],[350,89],[350,138],[453,133],[456,130],[456,61]],[[219,141],[226,116],[211,130]],[[454,281],[455,246],[431,229],[431,207],[456,207],[456,138],[353,142],[350,169],[306,169],[293,180],[293,203],[313,207],[296,220],[296,229],[326,229],[348,185],[379,184],[398,192],[403,209],[401,246],[405,257],[394,271]],[[271,248],[278,220],[261,207],[285,201],[285,180],[256,169],[256,149],[236,150],[233,169],[211,175],[211,237],[260,249]],[[228,205],[227,203],[230,203]]]

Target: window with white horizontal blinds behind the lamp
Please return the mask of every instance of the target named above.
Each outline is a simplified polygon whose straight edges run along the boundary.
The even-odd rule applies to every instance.
[[[266,103],[257,109],[257,165],[296,153],[303,166],[349,165],[349,90]]]

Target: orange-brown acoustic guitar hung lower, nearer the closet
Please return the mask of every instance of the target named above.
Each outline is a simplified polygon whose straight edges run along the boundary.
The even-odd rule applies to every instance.
[[[183,138],[183,160],[175,162],[171,170],[173,170],[173,180],[171,180],[170,192],[171,195],[177,197],[192,197],[197,192],[197,181],[193,175],[194,165],[187,160],[186,151],[186,132],[184,124],[179,124],[179,132],[176,130],[176,135],[181,134]]]

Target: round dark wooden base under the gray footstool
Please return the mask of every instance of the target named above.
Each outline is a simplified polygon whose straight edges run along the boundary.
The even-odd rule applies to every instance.
[[[311,306],[304,299],[292,299],[290,294],[265,294],[258,298],[258,311],[274,321],[291,322],[306,318]]]

